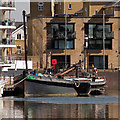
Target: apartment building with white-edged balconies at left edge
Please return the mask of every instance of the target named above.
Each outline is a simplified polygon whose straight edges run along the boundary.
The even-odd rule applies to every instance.
[[[11,18],[11,13],[15,10],[14,0],[0,1],[0,62],[2,65],[7,64],[5,66],[11,66],[14,62],[11,53],[12,48],[16,46],[11,31],[16,27],[15,20]]]

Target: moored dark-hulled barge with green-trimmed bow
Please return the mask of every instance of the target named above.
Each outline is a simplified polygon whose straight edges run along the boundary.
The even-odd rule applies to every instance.
[[[25,76],[26,79],[15,88],[19,92],[23,90],[24,96],[88,95],[93,91],[103,92],[106,84],[106,80],[101,78],[58,79],[42,74]]]

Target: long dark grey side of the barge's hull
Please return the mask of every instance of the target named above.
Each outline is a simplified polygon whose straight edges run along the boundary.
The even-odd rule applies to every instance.
[[[29,79],[25,80],[24,82],[25,96],[77,95],[77,92],[72,84]]]

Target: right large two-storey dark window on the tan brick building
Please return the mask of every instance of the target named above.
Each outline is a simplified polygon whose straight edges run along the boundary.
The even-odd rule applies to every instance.
[[[89,49],[103,49],[103,25],[86,24],[85,34],[88,36]],[[105,24],[105,49],[112,49],[112,24]]]

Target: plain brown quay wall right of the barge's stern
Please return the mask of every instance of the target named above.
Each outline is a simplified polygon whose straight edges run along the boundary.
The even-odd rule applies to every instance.
[[[105,76],[107,80],[107,89],[120,89],[120,71],[98,72],[99,76]]]

